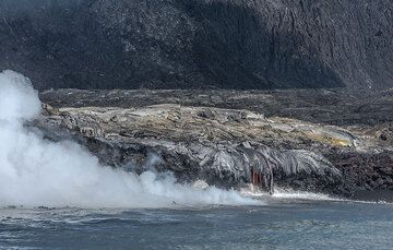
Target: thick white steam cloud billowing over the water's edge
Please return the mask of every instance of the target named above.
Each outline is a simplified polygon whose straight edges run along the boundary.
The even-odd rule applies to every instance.
[[[81,145],[51,142],[23,123],[39,115],[31,82],[0,73],[0,206],[163,207],[259,204],[235,191],[179,184],[167,174],[141,176],[100,166]]]

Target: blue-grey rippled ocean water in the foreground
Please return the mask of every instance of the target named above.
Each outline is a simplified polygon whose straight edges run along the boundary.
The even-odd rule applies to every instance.
[[[393,249],[393,205],[277,195],[258,206],[3,207],[0,249]]]

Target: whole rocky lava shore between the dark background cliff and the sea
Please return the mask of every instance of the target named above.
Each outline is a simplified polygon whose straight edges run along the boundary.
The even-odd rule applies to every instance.
[[[201,179],[224,188],[255,182],[257,174],[259,186],[270,192],[279,187],[391,200],[392,112],[382,117],[383,109],[374,110],[382,104],[392,110],[392,91],[368,98],[326,90],[305,98],[303,93],[49,91],[40,98],[55,107],[45,106],[45,116],[35,126],[53,141],[72,136],[106,165],[130,171],[154,167],[172,171],[179,181]],[[255,102],[261,106],[254,107]],[[327,104],[338,112],[330,112]],[[343,110],[359,112],[343,114],[337,108],[343,105]],[[266,115],[272,111],[269,107],[290,110],[293,116]],[[296,119],[307,118],[311,110],[327,115],[315,116],[312,122]],[[359,114],[370,122],[359,122]],[[341,126],[326,123],[326,117]]]

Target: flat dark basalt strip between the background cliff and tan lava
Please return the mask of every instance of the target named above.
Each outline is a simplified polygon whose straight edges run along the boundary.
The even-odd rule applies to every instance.
[[[334,126],[381,126],[381,141],[393,143],[393,90],[383,92],[336,90],[283,91],[80,91],[40,93],[53,107],[144,107],[159,104],[249,109],[266,117],[287,117]],[[201,116],[211,117],[205,112]],[[382,128],[385,123],[388,126]]]

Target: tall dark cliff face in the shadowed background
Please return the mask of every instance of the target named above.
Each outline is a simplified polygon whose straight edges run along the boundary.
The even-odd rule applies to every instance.
[[[0,69],[36,87],[385,88],[390,0],[0,0]]]

